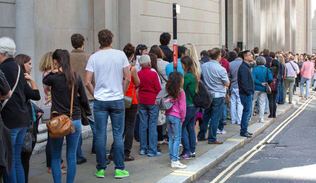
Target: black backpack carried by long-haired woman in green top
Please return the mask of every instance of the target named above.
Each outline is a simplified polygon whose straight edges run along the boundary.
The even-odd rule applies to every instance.
[[[195,94],[195,97],[193,97],[189,87],[186,88],[186,91],[190,93],[194,104],[197,107],[207,109],[210,107],[213,98],[211,97],[211,93],[209,91],[209,88],[200,80],[198,83],[198,91],[197,94]],[[190,98],[190,96],[188,96]]]

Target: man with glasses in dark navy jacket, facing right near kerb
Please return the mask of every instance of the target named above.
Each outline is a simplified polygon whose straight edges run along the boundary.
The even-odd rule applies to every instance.
[[[249,50],[241,53],[242,63],[238,69],[238,88],[241,104],[244,109],[242,111],[240,122],[240,136],[252,137],[252,133],[247,131],[248,121],[252,114],[252,100],[254,93],[254,81],[250,70],[250,63],[253,61],[253,56]]]

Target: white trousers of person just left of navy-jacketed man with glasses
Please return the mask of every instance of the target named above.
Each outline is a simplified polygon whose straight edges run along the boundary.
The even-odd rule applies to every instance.
[[[232,124],[240,124],[241,116],[242,116],[242,110],[244,107],[242,106],[240,102],[239,97],[239,89],[238,88],[232,88],[233,90],[230,92],[230,116],[232,118]]]

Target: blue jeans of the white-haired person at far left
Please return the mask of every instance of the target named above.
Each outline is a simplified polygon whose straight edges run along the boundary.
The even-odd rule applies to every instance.
[[[27,126],[18,127],[18,128],[9,128],[11,131],[11,141],[12,141],[12,168],[10,171],[10,176],[8,177],[5,170],[3,170],[4,179],[7,183],[24,183],[24,169],[21,162],[21,152],[22,145],[27,130]],[[60,167],[60,164],[59,164]],[[61,170],[60,170],[61,172]]]

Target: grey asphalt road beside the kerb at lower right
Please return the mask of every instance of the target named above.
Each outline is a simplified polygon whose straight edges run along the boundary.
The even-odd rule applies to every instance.
[[[305,99],[280,119],[277,119],[250,143],[229,155],[195,180],[194,183],[210,183],[216,177],[220,177],[216,183],[315,183],[316,100],[313,97],[313,100],[308,105],[303,105],[304,102],[306,102]],[[301,113],[296,117],[290,118],[292,121],[286,126],[284,125],[287,122],[282,125],[282,122],[294,114],[302,105],[303,107],[306,106],[306,108],[299,110]],[[279,129],[283,126],[284,128],[279,133],[277,133],[279,129],[273,132],[278,126]],[[272,134],[270,134],[271,132]],[[267,142],[274,134],[276,136],[270,143],[262,143]],[[264,140],[268,135],[270,135],[269,138]],[[260,144],[255,148],[257,150],[253,150],[251,153],[257,152],[251,158],[248,158],[247,162],[245,160],[241,161],[244,163],[236,162],[225,174],[218,176],[257,144]],[[260,147],[262,147],[262,150],[258,150]],[[247,156],[250,154],[248,153]],[[246,159],[247,156],[245,156]],[[229,176],[228,174],[231,175]],[[225,177],[227,179],[223,180]]]

